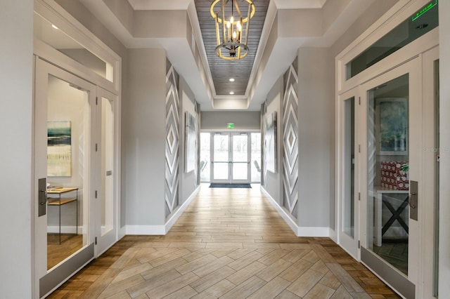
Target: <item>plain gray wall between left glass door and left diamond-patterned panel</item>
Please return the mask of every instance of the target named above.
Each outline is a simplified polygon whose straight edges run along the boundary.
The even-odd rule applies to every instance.
[[[151,233],[165,224],[165,96],[164,49],[129,50],[129,85],[122,107],[123,189],[128,227]]]

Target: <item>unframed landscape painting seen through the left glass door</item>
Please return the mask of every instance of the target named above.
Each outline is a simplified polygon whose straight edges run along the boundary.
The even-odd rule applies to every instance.
[[[47,122],[47,176],[72,176],[70,121]]]

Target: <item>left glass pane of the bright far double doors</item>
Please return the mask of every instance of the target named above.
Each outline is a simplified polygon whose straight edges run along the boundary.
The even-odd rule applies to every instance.
[[[214,134],[212,159],[214,162],[212,180],[228,181],[229,176],[229,135]]]

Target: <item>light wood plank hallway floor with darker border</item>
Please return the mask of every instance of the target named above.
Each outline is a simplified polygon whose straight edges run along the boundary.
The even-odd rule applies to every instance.
[[[126,236],[49,298],[399,298],[252,189],[208,188],[165,236]]]

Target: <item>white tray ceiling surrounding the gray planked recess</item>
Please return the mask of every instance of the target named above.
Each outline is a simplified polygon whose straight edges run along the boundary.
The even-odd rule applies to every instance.
[[[208,72],[209,66],[207,65],[200,25],[193,0],[122,0],[124,1],[122,5],[131,7],[131,10],[140,11],[141,13],[143,13],[142,11],[155,10],[186,10],[193,27],[195,44],[198,45],[199,48],[203,48],[203,52],[201,51],[202,49],[200,49],[200,58],[206,69],[206,76],[210,77],[207,80],[207,83],[202,79],[203,72],[199,71],[193,55],[192,57],[186,58],[186,53],[188,53],[188,51],[186,51],[186,38],[184,40],[153,36],[145,38],[139,36],[139,38],[136,38],[133,36],[132,32],[130,32],[129,26],[127,27],[127,24],[122,24],[115,13],[110,11],[110,8],[105,4],[110,2],[110,0],[79,1],[96,15],[98,20],[103,22],[103,25],[108,27],[127,48],[165,48],[167,57],[172,62],[172,65],[174,65],[177,72],[186,79],[188,85],[195,94],[195,100],[200,103],[200,109],[205,111],[214,110],[215,98],[217,98],[217,102],[220,100],[221,105],[216,106],[220,106],[221,109],[238,110],[247,108],[249,110],[259,110],[271,86],[273,86],[275,81],[283,74],[283,72],[285,72],[285,69],[288,69],[290,63],[297,55],[298,48],[302,46],[328,47],[332,45],[339,36],[345,33],[352,23],[366,11],[368,6],[373,4],[374,1],[379,0],[271,0],[255,58],[254,68],[252,74],[250,74],[248,92],[246,93],[245,98],[242,98],[242,96],[238,98],[229,95],[226,96],[227,100],[224,100],[223,96],[215,96],[214,92],[213,100],[209,96],[210,93],[208,91],[214,91],[214,88],[211,88],[212,79],[210,72]],[[120,1],[116,0],[114,3],[120,3]],[[296,9],[296,11],[293,11],[293,9]],[[283,20],[278,18],[277,24],[278,27],[281,25],[290,27],[290,35],[283,36],[283,32],[278,32],[274,47],[270,49],[271,53],[264,53],[264,51],[269,51],[268,49],[265,49],[266,43],[271,33],[271,26],[274,22],[274,18],[277,11],[280,10],[289,10],[288,12],[293,12],[292,18]],[[311,15],[317,15],[319,11],[321,19],[314,20],[313,18],[312,20],[314,22],[309,22],[309,20],[311,20],[309,10],[311,11]],[[304,16],[307,18],[304,18]],[[143,28],[143,30],[146,29]],[[311,31],[307,32],[307,30]],[[318,31],[321,32],[321,34],[317,34]],[[311,32],[314,32],[314,34],[311,34]],[[263,53],[265,61],[262,65],[264,65],[264,69],[257,70],[256,68],[260,65],[259,62],[263,59]],[[257,81],[255,80],[256,77]],[[205,86],[205,84],[209,86]],[[248,98],[250,98],[250,104],[247,104]],[[233,102],[240,102],[240,105],[233,106]],[[246,104],[242,105],[243,102]],[[224,105],[224,103],[230,103],[230,105]]]

